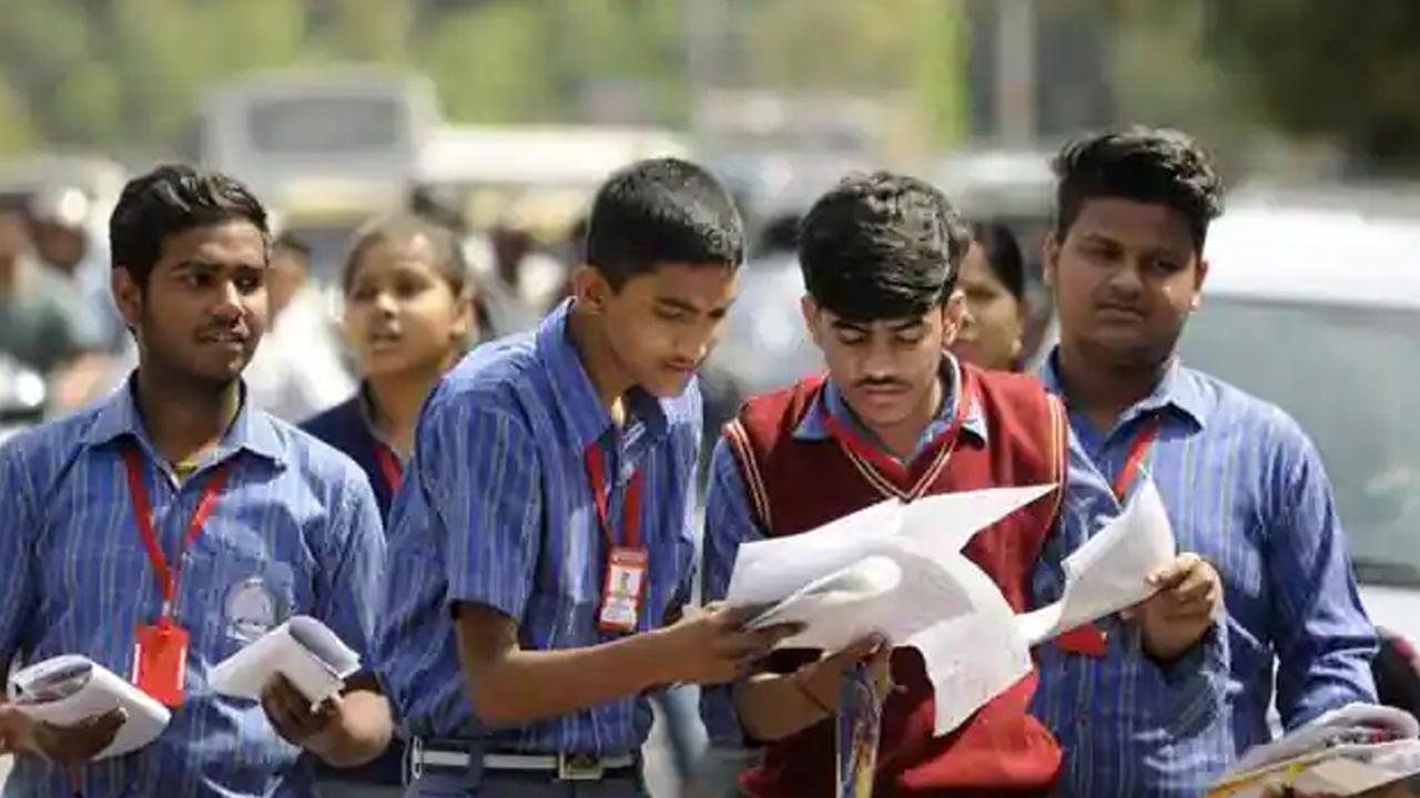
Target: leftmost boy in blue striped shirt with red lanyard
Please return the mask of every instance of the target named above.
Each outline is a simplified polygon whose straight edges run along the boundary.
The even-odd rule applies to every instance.
[[[241,386],[266,329],[267,236],[266,210],[230,177],[160,166],[131,180],[111,222],[112,287],[138,369],[0,449],[0,663],[81,655],[180,706],[153,743],[102,761],[121,710],[7,734],[23,745],[7,794],[304,798],[310,757],[351,767],[388,744],[369,672],[317,706],[285,679],[260,703],[209,682],[294,615],[371,662],[373,493]]]

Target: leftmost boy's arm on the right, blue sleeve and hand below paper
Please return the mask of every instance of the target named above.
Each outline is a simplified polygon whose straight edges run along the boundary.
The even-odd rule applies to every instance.
[[[331,540],[342,540],[334,565],[321,569],[320,618],[368,663],[372,662],[375,611],[379,601],[385,535],[368,481],[351,466]],[[393,733],[389,701],[369,672],[346,680],[331,723],[304,745],[332,767],[365,764],[389,745]]]

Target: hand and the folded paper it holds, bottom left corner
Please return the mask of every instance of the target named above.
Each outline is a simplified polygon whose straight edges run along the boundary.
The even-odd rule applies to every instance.
[[[105,760],[148,745],[170,720],[168,707],[104,666],[77,655],[10,676],[10,707],[31,723],[14,736],[24,750],[58,763]],[[7,731],[7,741],[11,734]]]

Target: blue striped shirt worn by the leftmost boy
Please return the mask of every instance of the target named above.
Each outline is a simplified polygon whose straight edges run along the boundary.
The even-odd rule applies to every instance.
[[[158,579],[133,523],[124,450],[146,467],[153,527],[182,550],[217,463],[227,480],[202,534],[182,550],[176,618],[192,635],[186,701],[151,745],[89,763],[85,798],[307,797],[310,757],[257,701],[217,696],[210,669],[288,615],[324,621],[369,652],[383,561],[379,511],[348,457],[243,406],[217,452],[180,486],[129,388],[0,449],[0,657],[77,653],[128,677],[133,638],[158,621]],[[368,656],[366,656],[368,662]],[[62,770],[20,757],[6,795],[70,795]]]

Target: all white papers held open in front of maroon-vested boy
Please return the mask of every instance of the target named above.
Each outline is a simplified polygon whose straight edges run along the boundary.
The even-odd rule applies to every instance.
[[[1015,615],[961,550],[983,528],[1055,486],[883,501],[816,530],[740,547],[726,601],[750,628],[797,622],[780,645],[836,650],[878,632],[922,652],[946,734],[1031,670],[1030,646],[1152,595],[1147,576],[1174,557],[1153,484],[1065,562],[1064,598]]]

